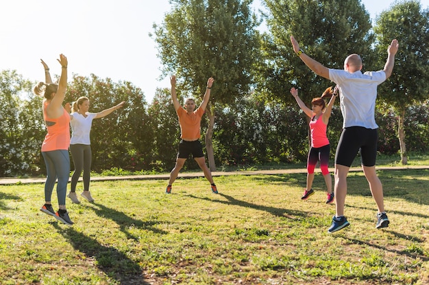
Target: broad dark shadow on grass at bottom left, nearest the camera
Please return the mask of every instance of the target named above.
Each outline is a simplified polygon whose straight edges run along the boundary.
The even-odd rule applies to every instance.
[[[88,258],[95,258],[97,267],[112,277],[118,284],[143,284],[149,285],[143,277],[143,269],[114,247],[101,245],[96,239],[77,232],[73,227],[63,229],[58,223],[53,223],[58,233],[79,252],[86,254]]]

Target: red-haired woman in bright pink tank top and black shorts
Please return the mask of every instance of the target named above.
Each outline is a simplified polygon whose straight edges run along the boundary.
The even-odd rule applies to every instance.
[[[328,169],[328,162],[330,156],[330,144],[328,137],[326,136],[326,127],[328,126],[329,118],[331,116],[332,106],[334,105],[336,98],[337,87],[332,89],[328,87],[323,92],[321,98],[314,98],[311,101],[311,109],[308,108],[301,98],[298,96],[298,90],[294,87],[291,88],[291,94],[297,101],[299,108],[310,117],[310,131],[311,131],[311,146],[308,151],[307,159],[307,181],[306,189],[302,195],[302,200],[307,200],[311,195],[315,193],[312,189],[312,182],[315,178],[315,167],[317,161],[320,162],[320,169],[323,174],[323,178],[326,183],[326,192],[328,198],[326,204],[330,204],[334,201],[334,193],[332,192],[332,178]],[[331,96],[331,99],[326,105],[324,97]]]

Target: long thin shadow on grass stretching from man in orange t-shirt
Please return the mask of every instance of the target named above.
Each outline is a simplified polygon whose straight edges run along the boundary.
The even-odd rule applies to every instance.
[[[207,200],[207,201],[217,202],[221,204],[235,205],[235,206],[241,206],[245,208],[254,208],[255,210],[271,213],[271,215],[275,215],[277,217],[286,217],[289,219],[295,219],[296,217],[307,217],[307,213],[304,211],[288,210],[285,208],[275,208],[271,206],[264,206],[264,205],[249,203],[242,200],[237,200],[236,198],[230,195],[225,195],[223,193],[219,193],[217,195],[221,195],[222,197],[226,198],[228,201],[219,200],[219,199],[210,199],[207,197],[202,198],[202,197],[197,197],[195,195],[188,195],[188,196],[195,199]]]

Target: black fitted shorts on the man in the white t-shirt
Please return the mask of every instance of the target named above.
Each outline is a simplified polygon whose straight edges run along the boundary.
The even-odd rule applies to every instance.
[[[376,165],[378,129],[350,126],[344,128],[336,146],[335,164],[350,167],[360,150],[360,162],[364,166]]]

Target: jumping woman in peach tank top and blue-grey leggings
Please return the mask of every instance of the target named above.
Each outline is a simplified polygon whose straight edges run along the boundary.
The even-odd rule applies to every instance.
[[[42,143],[42,157],[45,159],[47,179],[45,182],[45,204],[40,211],[51,215],[68,226],[73,225],[66,210],[66,188],[70,176],[70,115],[62,107],[67,87],[67,58],[60,55],[57,59],[61,64],[61,77],[57,84],[53,84],[47,64],[45,68],[45,82],[39,82],[34,87],[34,94],[43,96],[42,113],[47,127],[47,135]],[[57,198],[58,211],[53,211],[51,196],[53,187],[58,178]]]

